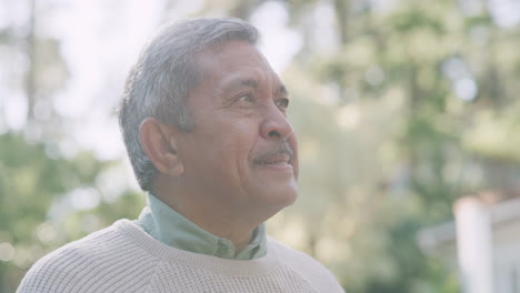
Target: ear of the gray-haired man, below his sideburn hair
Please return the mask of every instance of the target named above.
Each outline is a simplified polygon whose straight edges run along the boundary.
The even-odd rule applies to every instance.
[[[179,176],[184,166],[177,153],[173,127],[163,124],[154,118],[147,118],[139,128],[142,150],[159,172]]]

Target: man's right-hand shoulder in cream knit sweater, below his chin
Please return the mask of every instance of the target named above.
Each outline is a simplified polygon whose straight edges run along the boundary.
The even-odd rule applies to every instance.
[[[276,250],[281,263],[297,272],[318,292],[343,292],[334,275],[313,257],[268,236],[270,249]]]

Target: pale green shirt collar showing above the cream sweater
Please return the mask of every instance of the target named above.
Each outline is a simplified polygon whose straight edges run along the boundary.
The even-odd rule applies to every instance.
[[[157,196],[148,195],[146,206],[136,223],[152,238],[176,249],[223,259],[252,260],[266,255],[266,224],[260,224],[249,244],[234,251],[230,240],[213,235],[171,209]]]

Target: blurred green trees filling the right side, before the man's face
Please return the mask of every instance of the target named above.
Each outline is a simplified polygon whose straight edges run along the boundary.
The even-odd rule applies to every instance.
[[[449,220],[458,196],[519,180],[519,30],[492,4],[286,3],[306,38],[284,72],[303,161],[283,220],[303,232],[287,241],[350,292],[458,292],[416,233]]]

